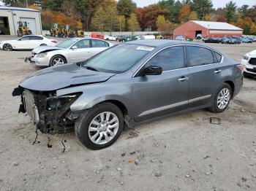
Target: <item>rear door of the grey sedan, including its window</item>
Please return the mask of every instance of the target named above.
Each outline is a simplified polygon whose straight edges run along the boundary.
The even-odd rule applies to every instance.
[[[222,55],[206,47],[187,45],[189,107],[211,101],[222,81]]]

